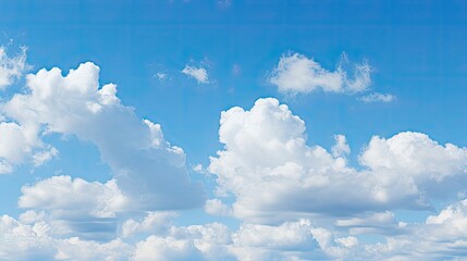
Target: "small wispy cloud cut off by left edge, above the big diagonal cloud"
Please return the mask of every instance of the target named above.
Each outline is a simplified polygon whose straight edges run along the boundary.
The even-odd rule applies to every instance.
[[[19,79],[26,69],[25,47],[23,47],[22,52],[14,58],[9,58],[7,55],[7,49],[0,47],[0,90],[13,84],[15,79]]]

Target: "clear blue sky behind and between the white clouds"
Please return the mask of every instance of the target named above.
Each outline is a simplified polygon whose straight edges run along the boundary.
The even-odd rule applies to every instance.
[[[160,124],[165,140],[183,148],[189,177],[202,184],[207,198],[216,197],[217,174],[206,176],[193,167],[207,167],[209,157],[223,149],[219,141],[221,112],[233,107],[250,110],[259,98],[273,97],[287,104],[305,122],[308,145],[331,151],[333,135],[345,135],[352,150],[348,164],[356,170],[365,169],[358,158],[372,136],[389,139],[410,130],[427,134],[442,146],[467,147],[467,4],[463,1],[72,0],[0,1],[0,45],[10,57],[20,53],[20,47],[27,47],[27,73],[57,66],[66,75],[83,62],[94,62],[100,67],[101,85],[116,84],[123,105],[133,107],[139,119]],[[284,94],[271,84],[281,58],[299,53],[332,72],[344,52],[351,65],[367,61],[371,66],[371,84],[362,92],[317,89]],[[186,65],[205,69],[209,83],[183,74]],[[165,78],[160,80],[158,73]],[[27,92],[25,77],[0,91],[2,103],[15,94]],[[361,101],[373,92],[390,94],[395,99]],[[41,139],[56,147],[60,156],[37,167],[27,162],[17,164],[12,173],[0,175],[1,214],[20,219],[25,209],[17,207],[17,199],[25,184],[54,175],[100,183],[112,178],[111,167],[102,162],[91,141],[60,133]],[[464,172],[465,166],[462,163]],[[463,189],[466,185],[460,184],[458,190]],[[456,192],[431,199],[432,211],[400,207],[376,211],[391,211],[397,221],[409,225],[426,223],[427,216],[464,199]],[[223,201],[232,203],[235,197]],[[239,215],[210,215],[202,206],[177,211],[177,226],[217,221],[235,231],[251,223]],[[352,214],[355,216],[359,214]],[[291,222],[296,220],[294,216]],[[319,225],[319,221],[314,222]],[[356,237],[360,244],[383,244],[390,234]],[[274,251],[268,257],[288,257],[283,250]],[[348,254],[343,259],[358,257]],[[397,254],[401,252],[395,251],[394,257],[404,257]],[[299,257],[306,260],[308,256]],[[325,251],[309,257],[335,258]],[[238,254],[235,258],[248,260]]]

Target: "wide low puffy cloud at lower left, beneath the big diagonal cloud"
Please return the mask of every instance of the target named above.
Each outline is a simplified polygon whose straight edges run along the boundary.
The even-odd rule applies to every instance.
[[[102,184],[52,176],[21,190],[19,207],[28,209],[21,215],[23,222],[47,222],[51,235],[96,240],[115,236],[115,216],[130,203],[113,179]]]

